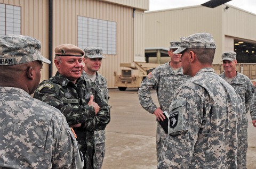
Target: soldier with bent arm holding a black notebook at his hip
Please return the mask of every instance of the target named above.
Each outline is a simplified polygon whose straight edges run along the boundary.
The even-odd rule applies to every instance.
[[[190,78],[182,73],[182,67],[180,63],[180,54],[173,54],[173,52],[179,47],[179,41],[170,42],[169,56],[170,62],[167,62],[161,66],[156,67],[150,72],[146,79],[141,83],[139,88],[139,100],[143,108],[151,114],[155,114],[157,118],[156,128],[156,156],[159,157],[161,149],[164,145],[166,133],[162,126],[159,124],[159,120],[165,119],[163,112],[167,111],[175,96],[175,92],[182,85],[186,79]],[[157,98],[160,107],[157,107],[150,96],[150,89],[156,88]]]

